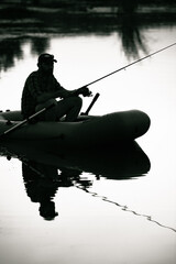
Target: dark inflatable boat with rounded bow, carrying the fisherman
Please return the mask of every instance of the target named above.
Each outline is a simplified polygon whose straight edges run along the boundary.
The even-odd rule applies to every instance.
[[[11,133],[4,132],[22,122],[20,111],[0,113],[0,140],[35,140],[52,142],[55,147],[89,148],[113,146],[145,134],[151,121],[140,110],[112,112],[105,116],[80,116],[76,122],[25,123]]]

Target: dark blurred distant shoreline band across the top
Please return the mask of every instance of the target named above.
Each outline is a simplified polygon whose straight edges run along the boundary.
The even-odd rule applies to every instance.
[[[118,8],[94,7],[86,10],[34,6],[0,4],[0,34],[109,33],[119,26],[176,24],[175,6],[139,6],[135,12],[120,13]]]

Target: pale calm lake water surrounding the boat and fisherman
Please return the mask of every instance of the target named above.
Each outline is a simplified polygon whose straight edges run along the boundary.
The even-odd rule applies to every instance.
[[[129,56],[118,31],[6,38],[9,51],[4,48],[2,56],[0,108],[20,109],[23,84],[36,69],[41,52],[55,55],[56,78],[75,89],[175,43],[176,25],[145,26],[140,37]],[[138,140],[151,163],[148,172],[141,164],[132,167],[133,152],[121,156],[116,150],[70,157],[73,169],[57,172],[62,180],[55,179],[53,167],[50,178],[43,179],[34,163],[29,167],[2,153],[2,264],[176,263],[175,55],[176,45],[89,87],[94,95],[100,92],[91,114],[139,109],[150,116],[151,128]],[[82,110],[90,101],[84,99]],[[50,221],[41,216],[43,194],[53,197],[50,206],[58,213]]]

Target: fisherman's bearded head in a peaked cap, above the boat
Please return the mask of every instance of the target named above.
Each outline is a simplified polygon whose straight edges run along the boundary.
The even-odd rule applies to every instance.
[[[41,54],[37,59],[38,68],[45,74],[53,74],[54,63],[57,61],[48,53]]]

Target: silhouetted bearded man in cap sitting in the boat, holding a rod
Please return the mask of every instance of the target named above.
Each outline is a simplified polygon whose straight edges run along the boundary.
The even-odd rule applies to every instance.
[[[82,106],[79,95],[91,95],[87,87],[72,91],[63,88],[53,75],[56,62],[54,56],[47,53],[38,56],[38,69],[30,74],[23,88],[21,110],[24,119],[50,105],[54,105],[41,113],[37,120],[56,121],[66,116],[65,121],[75,121]],[[62,100],[56,101],[56,98]]]

